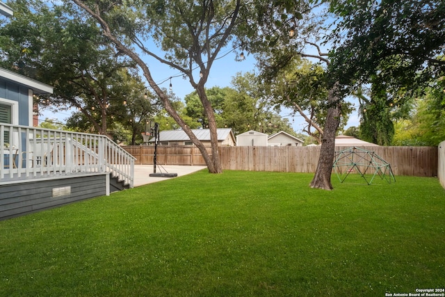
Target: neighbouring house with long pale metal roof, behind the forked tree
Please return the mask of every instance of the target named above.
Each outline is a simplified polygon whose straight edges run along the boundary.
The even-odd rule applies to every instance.
[[[193,134],[202,141],[205,146],[211,146],[210,129],[192,129]],[[230,128],[220,128],[216,130],[218,135],[218,145],[234,146],[235,136]],[[154,145],[154,138],[148,141],[149,145]],[[193,145],[184,130],[164,130],[159,133],[159,145]]]

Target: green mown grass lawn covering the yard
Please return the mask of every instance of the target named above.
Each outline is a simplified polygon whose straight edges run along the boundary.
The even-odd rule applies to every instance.
[[[333,191],[205,170],[0,222],[0,296],[385,296],[445,287],[435,178]]]

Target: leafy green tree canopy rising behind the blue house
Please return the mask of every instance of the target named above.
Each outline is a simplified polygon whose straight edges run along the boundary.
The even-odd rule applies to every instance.
[[[70,3],[30,0],[11,6],[14,16],[0,28],[9,37],[1,39],[3,67],[54,86],[54,94],[39,97],[38,103],[53,111],[79,111],[69,126],[108,134],[116,120],[124,119],[111,116],[122,115],[123,102],[145,90],[136,64],[118,54],[97,24]],[[150,109],[145,105],[145,113]]]

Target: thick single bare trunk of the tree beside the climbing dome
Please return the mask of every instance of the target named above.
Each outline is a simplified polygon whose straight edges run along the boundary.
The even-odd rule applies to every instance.
[[[314,179],[310,184],[311,188],[322,188],[332,190],[331,175],[332,164],[335,156],[335,134],[340,125],[341,101],[337,97],[337,88],[334,86],[327,97],[328,109],[325,128],[321,138],[320,159],[315,172]]]

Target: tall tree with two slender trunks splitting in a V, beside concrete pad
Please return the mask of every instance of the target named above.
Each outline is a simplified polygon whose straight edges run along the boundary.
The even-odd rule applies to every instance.
[[[204,86],[213,62],[232,41],[233,29],[241,22],[240,10],[245,3],[241,0],[73,1],[96,19],[118,51],[138,64],[149,86],[161,98],[165,110],[200,150],[209,172],[222,172],[216,120]],[[159,50],[162,54],[157,54]],[[143,55],[151,56],[165,67],[179,70],[195,88],[209,122],[211,154],[175,111]]]

